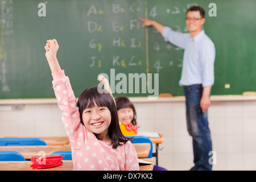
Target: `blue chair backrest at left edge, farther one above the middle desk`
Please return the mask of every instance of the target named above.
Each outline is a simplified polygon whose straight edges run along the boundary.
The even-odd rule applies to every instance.
[[[46,146],[41,138],[0,138],[0,146]]]

